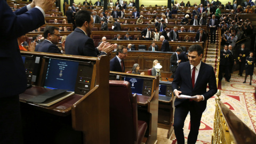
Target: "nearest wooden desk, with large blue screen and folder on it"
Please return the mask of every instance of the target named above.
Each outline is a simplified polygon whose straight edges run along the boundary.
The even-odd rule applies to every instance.
[[[38,141],[40,139],[38,141],[39,143],[47,143],[49,140],[72,143],[72,141],[70,142],[70,139],[72,139],[76,141],[81,140],[79,143],[110,143],[109,77],[106,75],[109,73],[109,61],[107,55],[94,58],[26,51],[22,51],[21,55],[44,57],[41,59],[41,67],[39,67],[38,81],[34,83],[36,86],[27,89],[25,93],[20,95],[21,110],[25,114],[25,117],[23,116],[22,118],[25,120],[25,123],[32,125],[31,127],[29,126],[31,128],[29,130],[26,127],[25,141],[31,143],[31,140]],[[50,107],[27,103],[27,99],[49,91],[42,87],[46,74],[45,70],[47,69],[45,67],[47,66],[45,57],[92,63],[90,91],[85,95],[71,95],[69,98],[55,103]],[[35,113],[31,113],[33,115],[30,115],[30,111],[34,111]],[[36,129],[39,128],[36,132],[34,130],[35,127]],[[100,139],[99,135],[101,136]]]

